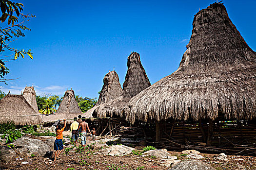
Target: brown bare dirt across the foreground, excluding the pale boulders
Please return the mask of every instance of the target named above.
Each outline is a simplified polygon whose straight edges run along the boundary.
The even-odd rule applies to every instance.
[[[56,162],[49,157],[17,156],[12,164],[0,164],[0,170],[169,170],[162,166],[160,159],[129,154],[110,156],[95,154],[97,151],[79,151],[73,149],[68,154],[64,151]],[[87,153],[86,153],[87,152]],[[169,152],[179,160],[187,159],[180,152]],[[201,161],[210,164],[216,170],[256,170],[256,157],[228,155],[228,161],[216,159],[217,154],[201,153]],[[54,155],[53,155],[54,156]],[[26,164],[24,164],[24,162]]]

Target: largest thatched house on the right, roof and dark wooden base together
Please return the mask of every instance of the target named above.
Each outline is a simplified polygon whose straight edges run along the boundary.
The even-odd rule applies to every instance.
[[[236,149],[236,144],[256,143],[255,122],[248,127],[256,117],[256,52],[223,4],[195,15],[186,47],[177,71],[130,100],[126,120],[155,121],[157,141]],[[224,120],[235,121],[222,126]]]

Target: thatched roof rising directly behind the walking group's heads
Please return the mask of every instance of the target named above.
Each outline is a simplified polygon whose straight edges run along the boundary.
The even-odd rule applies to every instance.
[[[43,121],[52,122],[59,119],[66,119],[67,123],[71,123],[73,122],[72,119],[74,117],[78,117],[78,115],[82,115],[82,112],[79,108],[78,102],[75,99],[75,93],[73,90],[67,90],[57,112],[54,115],[44,117]]]

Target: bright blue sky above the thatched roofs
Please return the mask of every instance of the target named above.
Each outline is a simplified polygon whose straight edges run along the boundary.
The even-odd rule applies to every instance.
[[[151,84],[173,73],[185,52],[199,8],[215,0],[20,0],[24,13],[36,15],[31,31],[11,43],[31,49],[7,63],[10,73],[0,90],[20,94],[35,86],[38,95],[63,95],[72,88],[82,97],[98,98],[103,77],[118,73],[122,85],[131,51],[140,54]],[[232,22],[256,51],[256,0],[224,0]],[[6,24],[5,24],[6,25]],[[4,27],[4,24],[1,24]]]

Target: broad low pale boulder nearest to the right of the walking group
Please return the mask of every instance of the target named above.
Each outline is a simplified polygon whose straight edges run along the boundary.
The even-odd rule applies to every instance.
[[[111,155],[111,156],[123,156],[126,154],[130,154],[134,148],[130,148],[124,145],[113,145],[108,148],[102,149],[98,151],[98,154],[103,155]]]

